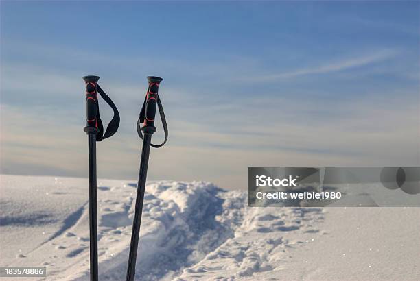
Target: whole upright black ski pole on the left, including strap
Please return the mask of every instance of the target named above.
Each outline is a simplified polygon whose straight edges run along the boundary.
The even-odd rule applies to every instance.
[[[115,134],[119,126],[119,113],[113,101],[97,84],[98,76],[84,76],[86,84],[86,127],[84,132],[89,138],[89,239],[90,239],[90,262],[91,262],[91,281],[98,280],[97,271],[97,176],[96,176],[96,142],[104,140]],[[111,119],[105,134],[104,127],[100,119],[99,103],[97,93],[114,110],[114,117]]]

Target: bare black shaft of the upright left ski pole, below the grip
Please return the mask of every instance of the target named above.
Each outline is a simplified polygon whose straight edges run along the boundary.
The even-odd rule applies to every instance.
[[[89,134],[89,234],[91,251],[91,281],[98,280],[96,188],[96,135]]]

